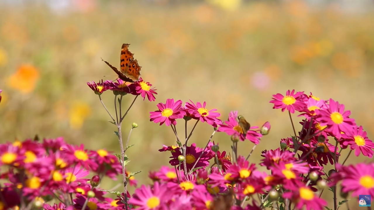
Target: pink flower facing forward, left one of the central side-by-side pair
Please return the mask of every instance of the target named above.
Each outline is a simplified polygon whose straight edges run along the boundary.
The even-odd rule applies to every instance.
[[[150,121],[154,121],[154,123],[166,124],[166,126],[170,126],[171,124],[176,125],[176,119],[181,119],[184,116],[184,108],[182,107],[182,101],[178,100],[174,102],[174,99],[166,99],[166,104],[159,103],[157,107],[159,110],[154,112],[149,112]]]

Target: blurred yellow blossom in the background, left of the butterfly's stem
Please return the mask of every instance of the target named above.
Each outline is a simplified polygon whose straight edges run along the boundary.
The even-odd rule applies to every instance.
[[[74,103],[69,110],[69,124],[73,129],[80,129],[85,119],[91,114],[91,108],[83,102]]]

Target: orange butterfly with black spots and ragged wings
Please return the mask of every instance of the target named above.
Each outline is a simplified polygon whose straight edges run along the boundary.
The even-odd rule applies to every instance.
[[[139,81],[141,66],[138,64],[137,59],[134,60],[134,54],[129,51],[129,45],[130,44],[122,44],[120,63],[121,71],[110,65],[108,62],[104,60],[102,61],[104,61],[105,64],[108,64],[121,80],[132,83],[134,81]]]

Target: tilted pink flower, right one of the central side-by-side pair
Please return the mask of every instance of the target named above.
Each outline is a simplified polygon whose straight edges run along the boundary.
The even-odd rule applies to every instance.
[[[203,104],[197,102],[196,105],[194,102],[190,100],[191,103],[186,102],[186,112],[192,115],[192,118],[196,120],[200,120],[201,122],[206,122],[213,127],[217,127],[217,124],[221,124],[222,121],[217,117],[220,117],[221,114],[217,111],[217,109],[208,109],[205,108],[206,102],[204,101]]]

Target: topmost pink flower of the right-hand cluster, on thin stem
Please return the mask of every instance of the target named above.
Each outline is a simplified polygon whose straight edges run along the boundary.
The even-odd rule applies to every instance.
[[[270,101],[273,103],[273,109],[282,109],[282,112],[287,109],[291,113],[296,111],[303,111],[305,108],[305,99],[306,95],[304,92],[296,92],[295,90],[287,90],[286,96],[283,96],[281,93],[273,95],[274,100]]]

